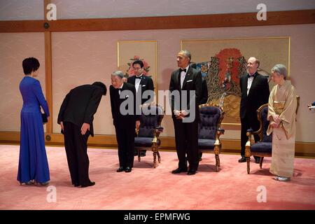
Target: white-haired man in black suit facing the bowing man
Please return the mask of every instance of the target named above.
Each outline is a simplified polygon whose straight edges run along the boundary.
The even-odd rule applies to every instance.
[[[123,81],[123,72],[111,74],[111,113],[118,143],[119,168],[117,172],[132,172],[134,165],[134,134],[140,126],[140,116],[136,114],[136,88]],[[139,105],[137,105],[139,106]]]

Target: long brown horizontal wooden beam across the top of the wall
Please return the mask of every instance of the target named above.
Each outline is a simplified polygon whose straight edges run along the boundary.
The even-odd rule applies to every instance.
[[[146,18],[108,18],[82,20],[0,21],[0,32],[34,31],[106,31],[131,29],[188,29],[207,27],[248,27],[315,23],[315,10],[267,12],[266,21],[258,21],[257,13],[216,15],[181,15]],[[50,27],[45,29],[44,22]]]

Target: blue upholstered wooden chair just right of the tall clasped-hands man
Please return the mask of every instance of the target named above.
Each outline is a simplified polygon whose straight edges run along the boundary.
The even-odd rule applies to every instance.
[[[224,134],[221,129],[224,111],[216,104],[202,104],[200,109],[200,124],[198,131],[198,147],[200,152],[214,152],[216,158],[216,172],[220,167],[219,154],[221,152],[220,136]]]

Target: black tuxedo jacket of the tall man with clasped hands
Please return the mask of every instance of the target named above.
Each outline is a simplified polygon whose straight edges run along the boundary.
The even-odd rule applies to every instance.
[[[199,116],[199,104],[200,99],[202,96],[202,75],[201,72],[197,69],[193,69],[191,66],[188,67],[188,71],[186,73],[185,79],[183,81],[183,88],[181,89],[181,75],[179,73],[179,69],[172,72],[171,81],[169,83],[169,91],[173,92],[174,90],[178,90],[180,93],[182,90],[187,90],[188,92],[188,99],[187,105],[181,105],[181,102],[175,102],[174,97],[171,97],[171,106],[172,106],[172,118],[174,116],[174,109],[183,110],[183,109],[190,109],[190,90],[195,90],[195,114],[196,114],[196,121],[200,120]]]

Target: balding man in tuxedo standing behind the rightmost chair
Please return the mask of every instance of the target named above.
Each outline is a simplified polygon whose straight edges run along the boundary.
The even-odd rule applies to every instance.
[[[241,118],[241,158],[239,162],[246,162],[245,144],[248,140],[246,132],[248,129],[258,130],[260,123],[257,118],[257,109],[262,104],[267,104],[269,99],[269,85],[265,76],[258,73],[260,62],[255,57],[250,57],[247,62],[248,74],[241,76],[239,86],[241,87],[241,106],[239,116]],[[255,142],[259,136],[254,135]],[[260,157],[254,157],[259,163]]]

